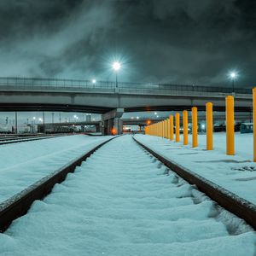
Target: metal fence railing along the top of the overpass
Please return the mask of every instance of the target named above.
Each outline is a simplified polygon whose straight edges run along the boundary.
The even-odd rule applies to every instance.
[[[97,81],[93,84],[90,80],[82,79],[37,79],[37,78],[0,78],[0,90],[2,89],[91,89],[91,90],[111,90],[115,89],[115,82]],[[11,88],[10,88],[11,87]],[[160,91],[193,91],[193,92],[218,92],[232,93],[229,87],[212,87],[189,84],[143,84],[143,83],[124,83],[119,82],[119,89],[125,90],[160,90]],[[252,89],[235,88],[236,93],[252,94]]]

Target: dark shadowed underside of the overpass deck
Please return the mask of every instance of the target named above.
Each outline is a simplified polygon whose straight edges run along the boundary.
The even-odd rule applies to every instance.
[[[192,108],[191,105],[181,106],[146,106],[136,108],[125,108],[125,112],[148,112],[148,111],[181,111]],[[205,106],[198,106],[198,111],[205,111]],[[66,105],[66,104],[37,104],[37,103],[0,103],[0,111],[56,111],[56,112],[77,112],[77,113],[107,113],[114,108],[103,108],[97,106],[83,106],[83,105]],[[224,106],[214,106],[214,111],[224,112]],[[236,112],[250,112],[252,107],[237,107],[235,106]]]

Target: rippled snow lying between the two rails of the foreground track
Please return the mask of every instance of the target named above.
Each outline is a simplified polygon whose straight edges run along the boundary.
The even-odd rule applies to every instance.
[[[255,243],[241,219],[124,136],[35,201],[0,235],[0,253],[233,256],[254,255]]]

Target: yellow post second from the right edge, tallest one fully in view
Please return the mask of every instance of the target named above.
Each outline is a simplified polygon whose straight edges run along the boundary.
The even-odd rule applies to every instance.
[[[235,154],[234,97],[226,96],[226,154]]]

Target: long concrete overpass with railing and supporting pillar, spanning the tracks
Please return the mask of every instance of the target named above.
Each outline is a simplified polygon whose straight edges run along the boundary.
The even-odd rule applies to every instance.
[[[177,111],[196,106],[224,111],[225,96],[236,97],[236,112],[252,108],[252,90],[182,84],[136,84],[78,79],[0,78],[0,111],[102,113],[104,133],[121,127],[124,112]],[[119,128],[118,128],[119,130]]]

